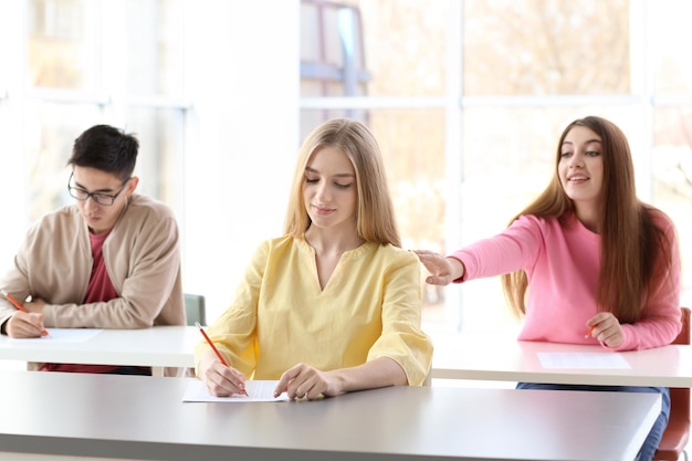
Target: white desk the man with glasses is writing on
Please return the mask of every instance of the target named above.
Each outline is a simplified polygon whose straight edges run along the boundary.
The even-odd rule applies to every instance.
[[[193,326],[104,329],[83,342],[15,340],[2,336],[0,359],[191,368],[195,366],[195,345],[200,339],[202,335]]]

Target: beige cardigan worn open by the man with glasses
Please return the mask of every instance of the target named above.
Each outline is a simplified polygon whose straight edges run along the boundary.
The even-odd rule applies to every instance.
[[[178,224],[172,211],[134,195],[103,244],[119,297],[82,304],[92,271],[88,228],[75,205],[33,224],[0,286],[17,300],[41,297],[46,327],[145,328],[185,325]],[[0,300],[0,324],[15,308]]]

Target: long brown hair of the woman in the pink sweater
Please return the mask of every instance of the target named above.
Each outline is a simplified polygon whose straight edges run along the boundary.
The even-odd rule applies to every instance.
[[[656,268],[660,261],[670,264],[672,250],[664,231],[654,222],[653,214],[659,211],[637,198],[629,144],[614,123],[588,116],[567,125],[557,143],[556,166],[551,182],[511,223],[522,214],[562,219],[574,211],[574,202],[562,187],[557,164],[563,142],[575,126],[596,133],[602,146],[602,200],[598,212],[601,244],[596,302],[599,311],[611,312],[621,323],[632,323],[641,315]],[[502,285],[513,310],[524,314],[528,287],[526,272],[520,270],[502,275]]]

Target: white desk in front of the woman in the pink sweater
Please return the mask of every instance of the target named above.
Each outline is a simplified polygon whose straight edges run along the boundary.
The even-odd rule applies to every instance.
[[[537,353],[608,353],[600,345],[520,342],[508,335],[462,334],[436,342],[432,377],[611,386],[692,387],[692,346],[618,353],[628,369],[543,368]]]

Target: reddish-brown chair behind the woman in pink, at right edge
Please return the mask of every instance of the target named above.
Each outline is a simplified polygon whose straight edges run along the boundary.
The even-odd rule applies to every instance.
[[[690,308],[682,307],[682,329],[673,344],[690,344]],[[671,387],[670,419],[663,431],[654,460],[678,461],[680,454],[688,461],[684,450],[690,440],[690,388]]]

